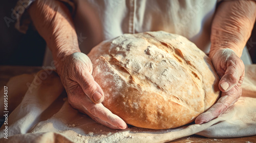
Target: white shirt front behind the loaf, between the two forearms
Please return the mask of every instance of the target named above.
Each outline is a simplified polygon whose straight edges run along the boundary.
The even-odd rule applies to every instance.
[[[211,22],[218,3],[217,0],[61,1],[71,7],[79,47],[85,54],[101,41],[124,33],[160,30],[182,35],[208,53]],[[28,6],[30,4],[31,0]],[[22,14],[18,15],[16,28],[24,32],[26,26],[20,25],[19,21]],[[248,52],[243,55],[249,56]],[[51,52],[47,49],[44,65],[50,65],[52,60]],[[250,63],[248,59],[246,63]]]

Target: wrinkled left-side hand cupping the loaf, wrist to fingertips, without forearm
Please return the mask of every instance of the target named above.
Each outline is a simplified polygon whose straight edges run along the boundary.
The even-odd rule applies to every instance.
[[[104,93],[92,76],[92,63],[83,53],[73,53],[57,66],[61,82],[72,107],[88,114],[96,122],[112,129],[125,129],[126,123],[101,102]]]

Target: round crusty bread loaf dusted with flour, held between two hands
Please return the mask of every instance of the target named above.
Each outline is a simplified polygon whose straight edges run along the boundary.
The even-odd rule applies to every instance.
[[[180,35],[124,34],[101,42],[88,56],[105,94],[103,105],[136,127],[191,123],[219,98],[210,59]]]

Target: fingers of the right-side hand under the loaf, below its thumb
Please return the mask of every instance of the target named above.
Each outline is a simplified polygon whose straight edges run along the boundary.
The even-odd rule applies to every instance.
[[[234,86],[227,92],[222,92],[221,98],[216,104],[214,104],[206,112],[200,114],[196,120],[196,124],[203,124],[211,121],[212,119],[218,117],[224,113],[228,107],[232,106],[241,97],[242,87]]]

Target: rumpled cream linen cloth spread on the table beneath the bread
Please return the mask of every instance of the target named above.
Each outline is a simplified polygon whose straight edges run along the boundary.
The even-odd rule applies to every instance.
[[[242,97],[225,113],[202,125],[191,123],[166,130],[104,127],[70,106],[53,70],[16,76],[6,85],[8,105],[16,108],[9,110],[8,139],[4,138],[6,125],[3,125],[0,142],[164,142],[192,134],[215,138],[255,135],[256,65],[245,67]],[[14,103],[20,96],[24,96],[22,102]]]

